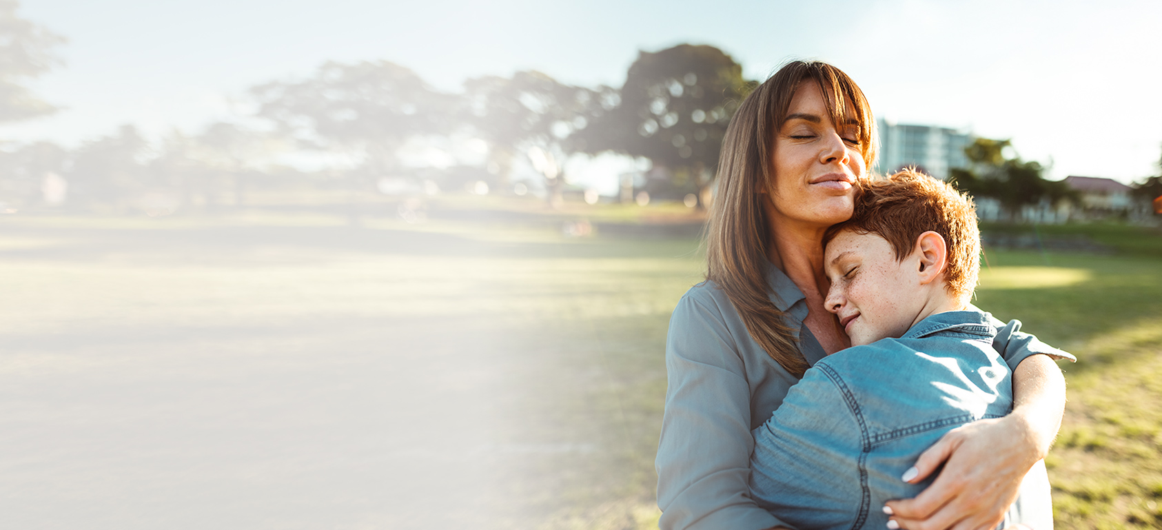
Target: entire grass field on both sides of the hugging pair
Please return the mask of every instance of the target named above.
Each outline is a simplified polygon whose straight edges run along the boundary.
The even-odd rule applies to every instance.
[[[1162,236],[1047,237],[1074,232],[1116,253],[988,249],[976,303],[1081,359],[1047,460],[1059,528],[1157,528]],[[0,509],[648,528],[666,325],[701,271],[691,238],[519,220],[0,217]]]

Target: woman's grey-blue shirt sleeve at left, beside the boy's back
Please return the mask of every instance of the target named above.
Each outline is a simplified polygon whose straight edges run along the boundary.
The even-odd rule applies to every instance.
[[[720,310],[687,294],[666,337],[666,410],[658,443],[662,530],[786,525],[749,497],[751,392]]]

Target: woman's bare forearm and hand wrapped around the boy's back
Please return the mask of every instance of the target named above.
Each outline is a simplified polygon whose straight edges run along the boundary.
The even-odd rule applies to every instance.
[[[1028,470],[1049,452],[1061,427],[1066,384],[1047,356],[1032,356],[1013,372],[1013,411],[948,431],[917,459],[903,480],[944,470],[914,499],[889,501],[889,528],[988,530],[1004,520]],[[913,471],[914,470],[914,471]]]

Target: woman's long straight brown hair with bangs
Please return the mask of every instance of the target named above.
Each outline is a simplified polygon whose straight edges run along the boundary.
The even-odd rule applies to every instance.
[[[777,176],[774,170],[775,134],[782,127],[801,83],[823,89],[832,123],[854,119],[859,126],[863,162],[876,155],[875,121],[863,92],[839,69],[816,60],[783,65],[739,106],[726,127],[718,163],[718,192],[706,228],[706,279],[717,284],[734,305],[751,337],[783,368],[802,377],[806,359],[795,343],[795,329],[770,301],[767,250],[772,234],[759,192]],[[848,107],[855,109],[847,116]],[[780,295],[780,293],[775,293]]]

